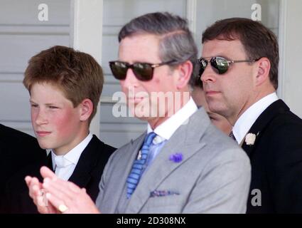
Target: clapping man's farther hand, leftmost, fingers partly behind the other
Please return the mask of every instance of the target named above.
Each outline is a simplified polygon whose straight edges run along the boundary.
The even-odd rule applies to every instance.
[[[26,185],[29,190],[29,196],[36,204],[38,212],[41,214],[54,214],[57,209],[50,204],[45,198],[45,190],[43,190],[42,183],[36,177],[25,177]]]

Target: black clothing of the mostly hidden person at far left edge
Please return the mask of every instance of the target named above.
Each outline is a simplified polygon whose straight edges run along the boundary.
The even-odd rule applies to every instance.
[[[33,162],[45,160],[36,138],[0,124],[0,213],[3,212],[6,182]]]

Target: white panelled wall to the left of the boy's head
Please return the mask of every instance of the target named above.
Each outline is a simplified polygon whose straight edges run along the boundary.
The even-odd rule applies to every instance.
[[[48,21],[39,21],[39,4]],[[69,46],[70,1],[0,0],[0,122],[33,135],[23,73],[31,56],[54,45]]]

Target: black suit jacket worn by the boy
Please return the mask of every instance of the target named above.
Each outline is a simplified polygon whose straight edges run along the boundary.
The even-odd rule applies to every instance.
[[[104,144],[97,136],[93,135],[92,140],[83,150],[79,161],[72,173],[69,181],[74,182],[79,187],[85,187],[87,194],[93,201],[99,193],[99,181],[102,177],[104,166],[107,163],[115,148]],[[53,170],[51,154],[48,155],[44,164]],[[6,202],[9,204],[9,213],[38,213],[36,205],[28,196],[28,188],[24,182],[26,175],[38,177],[43,180],[40,174],[41,165],[27,167],[24,171],[12,178],[6,187]]]

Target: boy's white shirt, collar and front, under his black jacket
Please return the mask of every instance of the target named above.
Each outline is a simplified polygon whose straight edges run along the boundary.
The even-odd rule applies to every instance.
[[[53,170],[55,170],[55,175],[62,180],[68,180],[71,177],[72,172],[75,170],[83,150],[85,150],[90,140],[92,140],[91,133],[89,133],[82,142],[65,155],[55,155],[53,150],[51,150],[51,158],[53,161]]]

